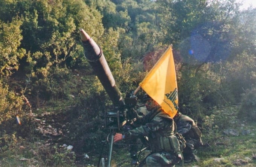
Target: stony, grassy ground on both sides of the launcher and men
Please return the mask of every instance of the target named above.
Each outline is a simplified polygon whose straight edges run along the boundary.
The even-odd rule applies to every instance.
[[[102,148],[100,151],[86,140],[78,141],[74,127],[86,122],[70,119],[72,113],[51,109],[39,109],[26,122],[21,121],[21,125],[14,120],[8,126],[7,123],[1,125],[6,134],[1,137],[0,166],[97,166],[101,151],[102,157],[108,157],[108,144],[96,143]],[[236,106],[214,110],[216,115],[203,123],[204,146],[196,153],[200,161],[185,166],[256,166],[256,123],[237,119],[234,116],[238,110]],[[219,124],[216,124],[218,121],[211,122],[213,117],[219,119]],[[30,130],[27,131],[27,128]],[[93,130],[93,127],[90,128]],[[15,130],[17,134],[11,135]],[[99,133],[99,130],[94,131],[95,134]],[[88,135],[93,137],[93,131]],[[107,133],[102,133],[102,140],[104,135]],[[91,146],[91,149],[82,151],[85,145]],[[128,145],[125,143],[114,144],[113,166],[130,166],[127,150]],[[140,155],[143,156],[146,152],[143,151]]]

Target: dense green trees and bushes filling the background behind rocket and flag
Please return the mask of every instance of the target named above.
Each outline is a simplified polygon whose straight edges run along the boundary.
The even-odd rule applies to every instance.
[[[2,165],[18,166],[12,155],[37,166],[98,156],[108,133],[101,117],[113,106],[84,57],[79,28],[103,49],[123,97],[173,44],[180,110],[200,123],[209,145],[237,117],[254,120],[256,9],[234,2],[0,0]],[[58,135],[40,133],[50,124]],[[65,143],[74,152],[59,147]]]

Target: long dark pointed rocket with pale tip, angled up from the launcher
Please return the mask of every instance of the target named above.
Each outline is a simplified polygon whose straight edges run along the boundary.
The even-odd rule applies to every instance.
[[[108,67],[102,49],[82,28],[79,30],[85,57],[98,76],[112,102],[119,107],[123,107],[125,103],[121,96],[121,92],[116,86],[116,82],[114,81],[113,75]]]

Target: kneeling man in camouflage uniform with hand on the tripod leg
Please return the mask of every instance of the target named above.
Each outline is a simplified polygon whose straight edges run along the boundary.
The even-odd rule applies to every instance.
[[[137,116],[137,121],[142,125],[123,134],[116,133],[114,142],[147,136],[151,154],[146,157],[146,165],[173,167],[182,160],[180,144],[175,136],[174,121],[149,95],[145,94],[143,100],[149,113]]]

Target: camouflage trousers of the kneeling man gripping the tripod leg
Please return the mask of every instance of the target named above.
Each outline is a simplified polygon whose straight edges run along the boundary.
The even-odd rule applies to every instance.
[[[146,157],[147,167],[174,167],[175,164],[179,163],[181,158],[176,154],[168,152],[153,153]]]

